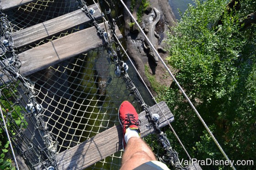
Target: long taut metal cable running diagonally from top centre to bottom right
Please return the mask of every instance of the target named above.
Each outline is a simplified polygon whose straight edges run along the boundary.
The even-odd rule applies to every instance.
[[[152,43],[149,41],[149,38],[147,37],[147,35],[144,33],[144,31],[142,30],[142,28],[139,26],[139,23],[135,20],[135,18],[133,17],[133,15],[131,14],[131,12],[128,10],[128,7],[124,4],[123,0],[120,0],[121,3],[123,4],[124,8],[128,11],[129,15],[133,18],[135,24],[139,27],[140,31],[142,32],[142,34],[144,35],[145,39],[149,42],[149,45],[151,46],[151,48],[154,50],[155,54],[158,56],[158,58],[160,59],[160,61],[162,62],[162,64],[165,66],[165,69],[168,71],[168,73],[171,75],[171,78],[175,81],[176,85],[178,86],[178,88],[181,90],[182,95],[184,95],[184,97],[187,99],[189,105],[192,107],[192,109],[195,111],[195,113],[197,114],[197,117],[199,118],[199,120],[203,123],[203,126],[205,127],[205,129],[208,131],[209,135],[211,136],[211,138],[213,139],[214,143],[218,146],[219,150],[221,151],[222,155],[224,155],[224,157],[226,158],[226,160],[229,161],[229,165],[230,167],[232,167],[233,170],[235,170],[234,165],[231,164],[231,161],[229,160],[229,157],[226,155],[226,153],[224,152],[224,150],[222,149],[222,147],[219,145],[219,142],[216,140],[216,138],[214,137],[213,133],[211,132],[211,130],[208,128],[208,126],[206,125],[206,123],[204,122],[203,118],[201,117],[201,115],[198,113],[197,109],[195,108],[195,106],[192,104],[191,100],[188,98],[188,96],[186,95],[185,91],[182,89],[181,85],[179,84],[179,82],[176,80],[176,78],[174,77],[174,75],[171,73],[171,70],[167,67],[167,65],[165,64],[164,60],[160,57],[160,55],[158,54],[158,51],[155,49],[154,45],[152,45]]]

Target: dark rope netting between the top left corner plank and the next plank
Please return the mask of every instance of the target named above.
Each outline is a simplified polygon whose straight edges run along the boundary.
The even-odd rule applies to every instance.
[[[79,5],[77,0],[32,0],[27,5],[6,10],[5,14],[13,30],[18,31],[75,11]]]

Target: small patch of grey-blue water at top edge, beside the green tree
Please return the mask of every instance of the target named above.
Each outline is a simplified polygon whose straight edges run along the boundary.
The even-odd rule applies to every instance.
[[[195,4],[193,0],[169,0],[169,5],[171,6],[172,12],[174,13],[177,20],[181,19],[181,14],[187,10],[188,4]]]

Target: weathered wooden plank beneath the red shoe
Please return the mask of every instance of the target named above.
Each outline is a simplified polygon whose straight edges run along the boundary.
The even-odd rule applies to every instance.
[[[161,110],[165,114],[169,122],[173,121],[173,115],[164,101],[159,103]],[[150,107],[152,113],[160,115],[160,127],[168,125],[162,112],[157,105]],[[145,111],[139,114],[141,120],[141,136],[145,137],[154,132],[154,129],[148,129],[148,119],[145,116]],[[57,165],[60,170],[83,170],[84,168],[106,158],[109,155],[121,150],[123,141],[123,130],[121,125],[114,126],[108,130],[95,135],[89,140],[76,145],[75,147],[59,153],[56,156]],[[35,167],[40,169],[40,165]]]

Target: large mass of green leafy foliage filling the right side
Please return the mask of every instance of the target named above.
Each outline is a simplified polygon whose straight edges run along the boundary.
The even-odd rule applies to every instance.
[[[168,34],[168,63],[180,70],[176,79],[230,159],[256,161],[256,134],[251,133],[256,130],[256,25],[241,24],[256,10],[256,0],[240,0],[239,10],[227,10],[226,0],[195,4]],[[161,98],[175,115],[175,129],[192,157],[218,159],[213,140],[177,88]]]

